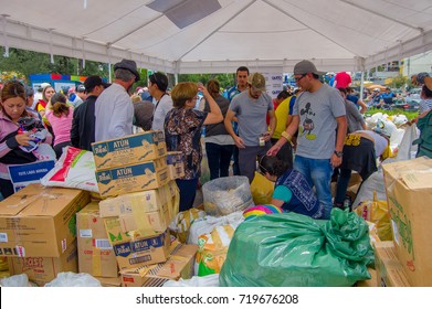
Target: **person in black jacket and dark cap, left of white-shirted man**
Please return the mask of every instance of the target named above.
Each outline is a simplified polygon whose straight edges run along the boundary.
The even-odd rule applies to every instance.
[[[92,151],[95,141],[95,103],[102,92],[109,86],[97,75],[88,76],[84,85],[86,99],[74,110],[71,128],[73,147]]]

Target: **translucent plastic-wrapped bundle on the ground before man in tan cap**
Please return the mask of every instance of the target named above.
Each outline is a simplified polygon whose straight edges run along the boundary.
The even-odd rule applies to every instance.
[[[202,185],[204,210],[209,215],[228,215],[253,206],[246,177],[222,177]]]

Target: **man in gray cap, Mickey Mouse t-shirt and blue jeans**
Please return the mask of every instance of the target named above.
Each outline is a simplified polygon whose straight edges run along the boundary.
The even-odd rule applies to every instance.
[[[276,156],[281,147],[291,141],[298,130],[294,169],[302,172],[310,187],[315,187],[324,219],[331,212],[330,180],[333,169],[343,160],[347,119],[339,90],[319,81],[318,72],[309,61],[294,66],[294,78],[304,90],[294,105],[293,121],[281,139],[268,150]]]

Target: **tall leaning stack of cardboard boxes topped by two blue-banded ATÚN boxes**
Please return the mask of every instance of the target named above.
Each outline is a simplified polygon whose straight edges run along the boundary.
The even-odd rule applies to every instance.
[[[185,172],[180,153],[167,153],[161,131],[96,142],[93,153],[99,192],[107,198],[99,202],[98,219],[117,260],[122,285],[154,286],[190,277],[186,269],[192,267],[197,247],[171,243],[168,231],[179,206],[173,179]],[[98,267],[96,263],[92,270]],[[149,271],[155,267],[169,271]]]

